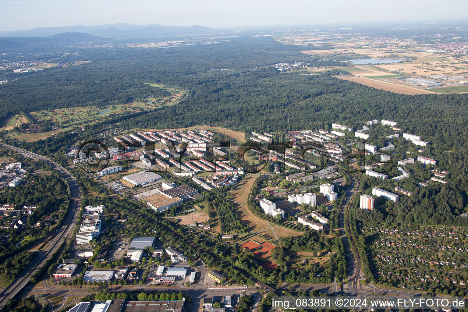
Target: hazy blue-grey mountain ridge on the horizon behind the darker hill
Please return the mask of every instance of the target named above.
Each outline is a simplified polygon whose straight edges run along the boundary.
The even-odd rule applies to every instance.
[[[133,25],[128,23],[117,23],[96,26],[64,26],[0,31],[0,37],[48,37],[63,33],[84,33],[102,38],[131,39],[148,38],[152,36],[177,36],[204,33],[213,34],[226,31],[226,29],[212,29],[199,25],[186,27],[160,24]],[[90,38],[90,40],[92,39]]]

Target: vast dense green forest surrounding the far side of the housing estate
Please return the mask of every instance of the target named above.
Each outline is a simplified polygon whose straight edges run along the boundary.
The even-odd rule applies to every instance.
[[[414,201],[422,203],[418,198],[428,196],[427,204],[435,208],[426,212],[436,212],[431,222],[457,223],[451,216],[466,210],[468,204],[468,94],[395,94],[336,79],[332,74],[337,72],[299,75],[265,67],[296,61],[322,64],[299,52],[302,49],[269,37],[242,36],[219,44],[171,49],[88,49],[73,60],[89,63],[52,68],[1,85],[0,119],[20,109],[132,102],[160,92],[144,84],[151,82],[183,89],[187,96],[176,105],[118,116],[88,125],[83,132],[59,133],[40,145],[22,146],[47,155],[64,152],[110,126],[164,129],[208,124],[249,133],[329,129],[333,122],[358,129],[363,120],[395,120],[403,131],[423,136],[430,145],[422,155],[437,159],[438,167],[451,172],[448,185],[416,192],[398,205],[399,212],[407,221],[426,220],[427,214],[418,212],[426,203],[415,206]],[[15,144],[15,140],[7,142]]]

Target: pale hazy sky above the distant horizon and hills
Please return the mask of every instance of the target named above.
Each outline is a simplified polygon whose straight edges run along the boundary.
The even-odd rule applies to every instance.
[[[0,0],[0,30],[113,23],[243,28],[466,19],[467,0]]]

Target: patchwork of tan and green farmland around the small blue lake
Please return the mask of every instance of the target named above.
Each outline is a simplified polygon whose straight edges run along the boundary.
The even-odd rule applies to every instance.
[[[468,77],[468,56],[446,50],[431,49],[427,45],[412,40],[383,40],[381,38],[367,40],[367,38],[359,39],[351,37],[350,39],[344,36],[306,37],[292,35],[280,36],[276,39],[285,44],[313,44],[334,47],[333,49],[301,51],[311,57],[323,57],[322,59],[325,61],[336,60],[347,62],[349,59],[357,58],[358,56],[376,59],[399,58],[403,60],[403,62],[391,64],[352,65],[350,63],[350,66],[326,66],[325,68],[314,69],[314,72],[344,70],[356,77],[338,78],[358,82],[369,87],[400,94],[431,94],[433,92],[447,94],[468,91],[467,88],[461,85],[448,85],[437,89],[429,89],[422,86],[398,83],[396,80],[386,80],[403,76],[425,79],[431,79],[429,77],[431,75]],[[312,73],[308,70],[298,70],[295,72],[302,74]]]

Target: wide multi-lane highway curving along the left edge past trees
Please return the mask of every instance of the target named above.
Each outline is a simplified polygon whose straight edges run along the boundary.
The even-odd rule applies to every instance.
[[[11,145],[6,145],[0,143],[0,146],[6,147],[8,149],[14,150],[16,152],[22,153],[24,156],[36,159],[36,160],[44,160],[48,163],[51,167],[57,170],[61,176],[68,182],[71,191],[71,197],[75,199],[70,200],[70,208],[66,215],[66,218],[56,232],[55,236],[50,239],[49,244],[47,247],[44,248],[44,251],[38,252],[37,258],[26,268],[24,271],[18,276],[15,281],[13,281],[5,290],[3,290],[0,294],[0,309],[6,304],[8,299],[15,297],[26,284],[29,282],[29,276],[41,265],[49,260],[52,254],[60,247],[60,245],[66,241],[67,239],[71,238],[73,234],[73,228],[75,226],[76,220],[78,218],[78,214],[80,212],[80,197],[81,197],[81,190],[78,186],[78,181],[76,181],[75,177],[70,174],[64,167],[60,166],[56,162],[50,160],[49,158],[35,154],[33,152],[28,152],[18,147],[14,147]]]

